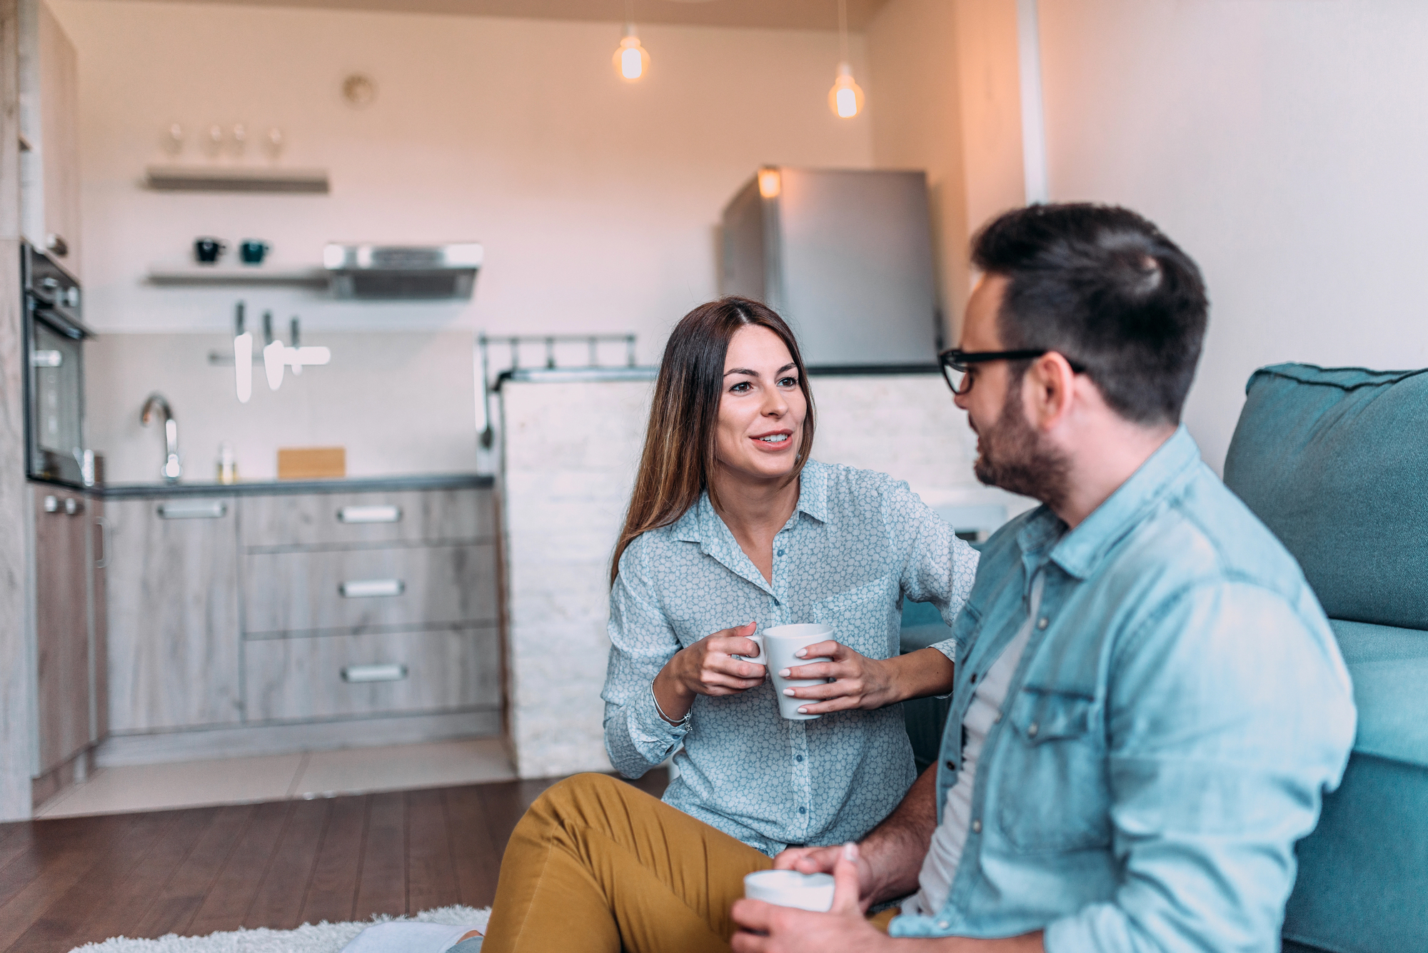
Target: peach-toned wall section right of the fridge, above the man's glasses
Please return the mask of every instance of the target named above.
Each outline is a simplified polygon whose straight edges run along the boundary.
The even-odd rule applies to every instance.
[[[942,312],[955,335],[970,235],[1024,201],[1015,0],[891,0],[867,30],[873,156],[925,168]]]

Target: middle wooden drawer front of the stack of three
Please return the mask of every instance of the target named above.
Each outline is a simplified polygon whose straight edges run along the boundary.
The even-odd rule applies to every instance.
[[[496,546],[261,552],[243,558],[244,632],[496,622]]]

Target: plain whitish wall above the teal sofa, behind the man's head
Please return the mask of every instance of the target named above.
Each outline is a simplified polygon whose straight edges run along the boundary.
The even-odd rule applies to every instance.
[[[1205,271],[1211,465],[1259,365],[1428,365],[1428,4],[1057,0],[1041,31],[1052,198],[1137,208]]]

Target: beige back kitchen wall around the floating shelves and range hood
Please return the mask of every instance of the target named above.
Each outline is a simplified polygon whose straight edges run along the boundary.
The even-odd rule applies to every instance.
[[[637,331],[648,358],[715,294],[714,225],[758,164],[873,161],[868,118],[827,107],[828,31],[650,26],[650,76],[625,84],[614,23],[49,1],[79,49],[87,317],[101,331],[228,327],[234,290],[141,282],[150,263],[186,260],[194,235],[268,238],[278,264],[317,263],[328,240],[476,238],[487,267],[471,304],[243,297],[250,314],[301,314],[314,335]],[[853,54],[865,77],[861,37]],[[378,84],[368,108],[340,97],[353,70]],[[278,126],[283,161],[327,167],[333,193],[140,188],[176,121],[190,137],[214,121]]]

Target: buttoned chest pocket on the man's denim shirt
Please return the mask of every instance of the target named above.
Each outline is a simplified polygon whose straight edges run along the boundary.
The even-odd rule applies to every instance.
[[[1022,853],[1111,843],[1105,743],[1095,699],[1025,688],[997,752],[997,823]]]

